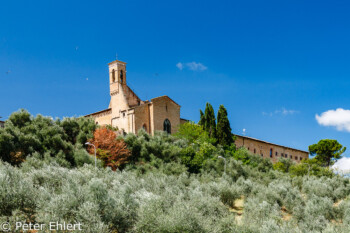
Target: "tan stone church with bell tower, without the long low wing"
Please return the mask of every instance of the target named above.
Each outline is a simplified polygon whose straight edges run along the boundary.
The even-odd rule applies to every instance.
[[[175,133],[186,121],[180,119],[181,106],[168,96],[141,100],[127,85],[125,62],[115,60],[108,67],[109,107],[86,117],[92,117],[99,125],[117,127],[123,133],[137,133],[144,128],[152,135],[155,131]]]

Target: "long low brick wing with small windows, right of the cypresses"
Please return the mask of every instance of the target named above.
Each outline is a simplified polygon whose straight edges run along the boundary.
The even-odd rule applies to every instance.
[[[250,137],[238,135],[236,135],[236,137],[235,144],[237,148],[243,146],[253,154],[269,158],[274,163],[281,157],[290,158],[297,163],[300,163],[302,159],[309,158],[309,153],[307,151],[297,150]]]

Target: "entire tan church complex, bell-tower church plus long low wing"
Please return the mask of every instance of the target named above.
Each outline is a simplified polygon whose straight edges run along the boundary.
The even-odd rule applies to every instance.
[[[109,94],[111,100],[107,109],[95,112],[96,124],[117,127],[120,133],[137,133],[141,128],[154,135],[155,131],[175,133],[180,124],[187,120],[180,118],[181,106],[168,96],[141,100],[127,85],[126,63],[113,61],[109,66]],[[0,122],[1,126],[1,122]],[[296,163],[308,159],[307,151],[298,150],[259,139],[236,135],[237,148],[245,147],[251,153],[277,162],[289,158]]]

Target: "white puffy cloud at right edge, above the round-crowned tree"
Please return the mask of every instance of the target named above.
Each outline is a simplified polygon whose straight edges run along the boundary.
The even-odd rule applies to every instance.
[[[323,126],[332,126],[339,131],[350,132],[350,110],[338,108],[316,114],[318,124]]]

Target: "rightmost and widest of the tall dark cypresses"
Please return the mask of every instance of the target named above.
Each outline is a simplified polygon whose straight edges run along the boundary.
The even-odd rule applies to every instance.
[[[216,138],[218,143],[223,146],[229,146],[233,143],[230,122],[227,118],[227,111],[224,105],[220,105],[218,116],[218,124],[216,127]]]

